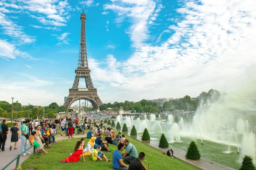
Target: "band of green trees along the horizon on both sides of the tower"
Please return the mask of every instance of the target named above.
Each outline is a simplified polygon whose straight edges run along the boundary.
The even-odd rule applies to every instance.
[[[221,97],[221,93],[218,90],[210,89],[208,92],[201,92],[201,94],[196,98],[191,98],[189,95],[184,96],[183,98],[177,98],[174,100],[166,101],[163,104],[163,107],[157,108],[157,104],[152,101],[147,101],[145,99],[133,102],[117,102],[113,104],[107,103],[99,106],[99,110],[107,110],[109,107],[113,111],[118,111],[119,107],[122,106],[124,110],[131,110],[131,112],[149,112],[149,113],[159,113],[165,111],[174,111],[174,110],[185,110],[185,111],[195,111],[201,104],[205,104],[207,99],[211,103],[218,101]],[[91,111],[93,108],[84,108],[84,111]],[[33,105],[22,106],[18,102],[13,103],[13,118],[27,118],[30,115],[30,118],[42,118],[43,115],[48,118],[55,118],[57,112],[65,112],[64,106],[58,106],[56,102],[49,104],[46,107],[35,107]],[[71,110],[69,110],[71,111]],[[12,104],[7,101],[0,101],[0,117],[11,118],[12,117]]]

